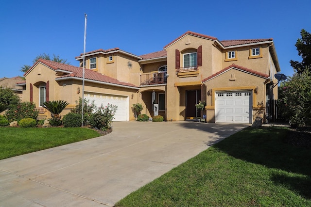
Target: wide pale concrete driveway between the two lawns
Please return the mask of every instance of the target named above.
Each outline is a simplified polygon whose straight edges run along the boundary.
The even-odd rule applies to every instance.
[[[249,125],[180,121],[112,126],[105,136],[0,160],[0,206],[112,207]]]

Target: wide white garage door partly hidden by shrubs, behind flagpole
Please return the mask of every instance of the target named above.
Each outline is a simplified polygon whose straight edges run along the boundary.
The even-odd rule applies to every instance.
[[[117,112],[114,115],[113,121],[128,121],[129,120],[129,100],[128,96],[118,96],[111,94],[97,94],[97,93],[85,93],[84,97],[90,102],[94,100],[96,106],[107,106],[107,104],[113,104],[118,106]]]

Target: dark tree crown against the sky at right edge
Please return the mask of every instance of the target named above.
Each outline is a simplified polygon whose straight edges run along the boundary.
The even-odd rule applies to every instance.
[[[301,38],[298,38],[295,46],[302,61],[290,61],[294,71],[299,74],[311,68],[311,34],[304,29],[301,30],[300,34]]]

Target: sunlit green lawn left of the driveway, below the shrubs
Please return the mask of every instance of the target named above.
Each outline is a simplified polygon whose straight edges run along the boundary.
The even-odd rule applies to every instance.
[[[0,159],[101,136],[89,128],[0,127]]]

